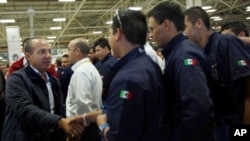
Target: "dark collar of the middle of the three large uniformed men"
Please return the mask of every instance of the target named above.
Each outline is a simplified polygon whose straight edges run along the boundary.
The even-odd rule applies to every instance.
[[[179,44],[182,40],[186,40],[187,37],[180,33],[179,35],[175,36],[162,50],[162,54],[165,58],[169,56],[169,54],[173,51],[174,47]]]

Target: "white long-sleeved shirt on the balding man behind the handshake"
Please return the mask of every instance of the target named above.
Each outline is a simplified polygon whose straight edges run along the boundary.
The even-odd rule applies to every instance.
[[[66,116],[72,117],[101,108],[102,79],[90,62],[83,58],[72,66],[74,71],[66,98]]]

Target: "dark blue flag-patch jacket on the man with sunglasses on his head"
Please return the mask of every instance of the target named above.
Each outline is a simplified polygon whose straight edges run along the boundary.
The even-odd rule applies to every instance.
[[[162,73],[144,51],[135,48],[113,67],[107,97],[109,141],[166,141],[159,124],[164,111]]]

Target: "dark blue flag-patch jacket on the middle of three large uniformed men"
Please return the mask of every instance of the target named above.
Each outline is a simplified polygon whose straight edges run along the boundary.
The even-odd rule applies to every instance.
[[[183,34],[162,51],[171,141],[206,141],[211,138],[213,110],[201,48]]]

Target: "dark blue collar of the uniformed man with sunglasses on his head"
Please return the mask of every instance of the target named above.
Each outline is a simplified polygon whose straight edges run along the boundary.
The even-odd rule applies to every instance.
[[[112,70],[114,71],[114,73],[118,72],[124,65],[143,54],[145,54],[144,46],[133,49],[128,54],[120,58],[118,62],[114,65]]]

